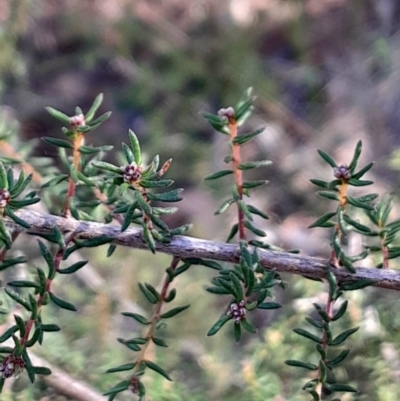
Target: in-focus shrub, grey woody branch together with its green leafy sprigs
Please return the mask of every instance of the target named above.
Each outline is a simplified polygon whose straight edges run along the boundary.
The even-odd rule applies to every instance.
[[[16,173],[14,165],[18,167],[20,160],[10,157],[1,159],[0,270],[15,268],[27,261],[24,256],[12,254],[13,244],[23,232],[40,238],[38,247],[43,259],[43,267],[37,267],[33,277],[13,279],[4,288],[5,294],[19,307],[14,308],[13,324],[0,336],[0,343],[3,344],[0,347],[1,386],[6,379],[22,371],[26,371],[32,383],[37,375],[51,374],[49,368],[35,366],[30,357],[31,348],[37,344],[43,345],[45,335],[47,337],[48,333],[61,329],[54,322],[47,321],[43,310],[53,304],[71,312],[77,311],[70,300],[56,293],[53,283],[62,280],[62,276],[73,275],[87,264],[84,260],[71,264],[71,255],[84,248],[107,244],[108,257],[112,257],[117,246],[171,255],[159,289],[149,283],[139,283],[139,290],[151,306],[151,313],[122,313],[126,319],[142,325],[143,332],[132,338],[117,338],[132,354],[128,354],[128,361],[123,365],[107,370],[107,373],[125,377],[104,393],[110,401],[125,391],[144,400],[146,388],[143,377],[148,370],[171,380],[169,372],[149,356],[148,347],[154,344],[165,348],[169,341],[176,341],[167,339],[163,328],[165,322],[176,315],[190,313],[190,309],[187,310],[189,304],[174,302],[177,294],[175,281],[193,265],[215,271],[215,277],[206,291],[227,300],[221,308],[220,318],[209,329],[208,336],[217,334],[224,325],[229,325],[237,342],[244,332],[257,332],[252,319],[254,311],[270,313],[269,310],[282,306],[274,301],[274,287],[285,288],[280,273],[298,274],[327,283],[326,302],[313,304],[315,313],[306,317],[308,326],[293,328],[297,335],[313,344],[313,359],[317,362],[287,359],[285,363],[311,372],[303,390],[313,400],[357,392],[357,389],[335,376],[338,366],[350,354],[350,349],[342,347],[359,329],[347,327],[337,332],[336,327],[343,327],[338,321],[343,321],[349,305],[346,295],[349,291],[359,291],[368,286],[400,288],[399,278],[388,269],[390,260],[400,256],[400,247],[395,244],[400,220],[389,221],[392,199],[383,197],[374,203],[378,198],[376,193],[355,196],[351,192],[352,187],[373,184],[364,179],[373,163],[358,166],[361,141],[357,143],[348,164],[339,165],[328,153],[318,151],[323,161],[332,168],[332,176],[325,180],[321,179],[325,177],[312,178],[311,182],[319,187],[317,195],[336,202],[332,211],[318,217],[310,225],[310,228],[323,227],[332,232],[331,253],[321,260],[300,256],[298,250],[287,252],[265,242],[266,233],[257,227],[257,219],[268,220],[269,217],[264,210],[251,204],[251,194],[253,188],[263,186],[267,181],[248,181],[245,172],[263,168],[271,162],[242,160],[242,145],[264,131],[259,128],[249,133],[239,132],[253,110],[251,90],[244,93],[235,107],[220,109],[215,115],[202,113],[216,131],[226,136],[230,149],[224,158],[227,168],[205,178],[206,181],[213,181],[229,176],[232,180],[231,192],[215,212],[219,215],[228,208],[236,209],[236,222],[227,235],[226,243],[184,236],[190,224],[174,228],[166,224],[162,217],[176,212],[173,204],[181,200],[182,192],[179,188],[170,189],[174,181],[166,178],[172,159],[160,163],[160,157],[156,155],[148,165],[145,164],[133,131],[129,130],[128,143],[122,144],[123,162],[120,165],[104,161],[111,146],[92,147],[84,144],[85,138],[110,116],[110,113],[105,113],[95,118],[101,102],[102,95],[99,95],[86,114],[77,108],[72,117],[50,107],[47,109],[64,125],[62,130],[65,139],[42,139],[58,148],[61,168],[65,173],[54,168],[44,169],[48,177],[40,189],[31,188],[34,173],[27,174],[32,171],[29,164],[22,163],[23,169]],[[39,195],[61,206],[60,215],[26,209],[40,202]],[[360,221],[360,211],[363,222]],[[364,222],[366,219],[368,222]],[[111,224],[112,221],[118,222],[118,225]],[[132,228],[132,225],[140,229]],[[348,254],[346,240],[350,235],[368,239],[364,250],[357,255]],[[355,265],[372,253],[376,254],[375,260],[381,259],[374,269]],[[172,306],[168,305],[170,303]],[[12,309],[3,309],[1,313],[8,314]],[[305,399],[309,397],[305,396]]]

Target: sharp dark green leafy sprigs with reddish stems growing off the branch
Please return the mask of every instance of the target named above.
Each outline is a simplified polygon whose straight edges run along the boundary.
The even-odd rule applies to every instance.
[[[185,234],[191,227],[190,224],[183,224],[170,228],[163,220],[163,215],[173,214],[177,210],[176,207],[165,207],[164,203],[177,202],[182,199],[182,189],[173,187],[171,189],[174,180],[164,178],[172,159],[168,159],[160,167],[160,157],[156,155],[149,164],[144,165],[147,153],[142,155],[136,134],[129,130],[127,144],[122,143],[121,163],[123,165],[114,165],[103,161],[105,153],[110,151],[112,146],[94,147],[90,145],[90,142],[82,141],[83,137],[88,138],[87,134],[110,116],[110,113],[105,113],[95,118],[102,100],[102,94],[97,96],[86,115],[83,115],[80,108],[77,108],[75,115],[71,117],[56,109],[47,109],[53,117],[66,125],[62,129],[66,139],[43,138],[44,142],[58,148],[60,169],[64,169],[62,170],[64,173],[60,170],[59,173],[54,174],[53,172],[51,176],[47,177],[40,186],[43,190],[41,194],[49,191],[53,196],[54,187],[57,187],[57,191],[62,196],[65,195],[65,206],[61,215],[66,219],[105,221],[106,223],[116,220],[120,223],[121,232],[127,231],[132,225],[140,227],[143,241],[147,244],[148,249],[155,253],[163,244],[171,243],[174,236]],[[171,288],[171,284],[175,285],[175,279],[192,265],[214,270],[216,276],[211,279],[212,286],[206,287],[206,292],[218,297],[222,296],[224,297],[223,302],[226,302],[226,306],[222,306],[222,310],[218,312],[220,317],[216,318],[217,321],[211,326],[207,336],[215,335],[228,321],[231,321],[229,324],[231,335],[236,342],[239,342],[242,336],[246,336],[248,333],[257,333],[256,326],[258,324],[253,325],[254,316],[258,316],[256,313],[269,313],[272,318],[275,314],[285,313],[277,311],[282,305],[275,302],[274,287],[278,285],[284,289],[286,283],[281,280],[278,273],[268,271],[260,263],[261,252],[259,252],[260,248],[269,252],[282,250],[276,245],[262,242],[259,239],[259,237],[266,236],[264,226],[259,223],[260,218],[267,220],[269,217],[263,210],[251,204],[253,189],[261,192],[259,187],[268,182],[263,179],[264,171],[261,167],[268,166],[271,162],[269,160],[241,160],[241,152],[244,149],[242,145],[255,140],[264,132],[264,128],[248,133],[238,132],[238,128],[251,114],[253,102],[254,97],[251,90],[247,90],[234,108],[221,109],[218,115],[203,113],[211,126],[225,135],[224,138],[231,149],[231,154],[224,158],[221,157],[223,162],[230,164],[228,168],[209,175],[205,180],[212,181],[221,177],[232,180],[231,189],[228,192],[229,198],[215,214],[222,214],[231,207],[236,209],[237,219],[230,227],[227,240],[237,240],[236,263],[225,264],[199,257],[179,259],[175,256],[165,270],[166,276],[160,285],[139,283],[139,291],[143,295],[141,299],[147,303],[147,309],[143,313],[122,313],[123,316],[132,318],[130,323],[135,328],[139,326],[140,334],[135,333],[128,339],[117,338],[117,341],[123,345],[121,348],[124,349],[124,352],[131,353],[132,351],[132,359],[107,370],[107,373],[121,374],[122,372],[122,375],[125,376],[124,380],[104,393],[109,396],[109,400],[113,400],[118,393],[129,390],[144,401],[146,389],[142,382],[142,376],[147,375],[149,370],[171,380],[164,367],[160,366],[165,363],[165,359],[158,358],[157,355],[157,361],[149,360],[150,353],[146,354],[146,352],[151,344],[156,345],[157,350],[168,351],[163,349],[174,341],[165,334],[167,325],[175,324],[174,318],[177,315],[180,316],[176,321],[179,321],[179,318],[185,319],[188,312],[182,312],[188,309],[189,305],[166,306],[165,304],[175,301],[177,289]],[[83,143],[88,143],[88,145]],[[308,329],[293,329],[301,336],[299,341],[308,340],[305,342],[308,345],[311,344],[315,351],[310,356],[311,362],[300,360],[300,357],[294,356],[296,359],[286,360],[286,364],[309,371],[308,374],[312,375],[312,378],[310,377],[303,389],[308,392],[307,398],[312,397],[317,401],[323,399],[324,392],[356,391],[347,384],[336,382],[335,379],[334,369],[343,366],[342,363],[349,355],[350,350],[337,350],[334,347],[342,346],[358,330],[358,328],[346,329],[340,326],[346,320],[342,318],[346,316],[348,301],[344,300],[340,306],[337,306],[337,301],[347,291],[361,290],[375,284],[373,280],[352,281],[346,279],[345,282],[339,281],[337,279],[338,269],[347,269],[349,273],[356,272],[356,262],[366,258],[369,252],[382,251],[383,262],[378,267],[385,268],[388,267],[389,260],[400,256],[400,247],[396,238],[397,232],[400,230],[400,220],[388,223],[393,205],[392,198],[383,198],[374,204],[378,194],[367,193],[361,196],[351,196],[347,193],[348,190],[350,192],[354,189],[352,187],[360,187],[359,190],[363,190],[364,186],[373,184],[370,180],[362,179],[364,174],[372,168],[373,163],[356,171],[361,152],[362,142],[359,141],[347,166],[346,164],[338,165],[329,154],[319,150],[318,153],[322,159],[332,167],[333,175],[328,177],[328,181],[311,179],[311,182],[321,189],[317,192],[320,197],[338,202],[334,211],[325,212],[309,226],[309,228],[329,228],[332,231],[332,253],[326,263],[324,276],[328,297],[326,305],[314,304],[313,315],[305,318]],[[6,164],[18,162],[18,160],[7,161],[5,158],[2,160]],[[107,158],[106,160],[115,159]],[[258,169],[259,176],[250,176],[251,170],[254,169]],[[247,179],[247,174],[249,174],[249,179]],[[6,201],[5,206],[0,207],[2,210],[0,241],[4,250],[3,260],[0,261],[0,270],[26,262],[26,258],[23,257],[5,258],[4,256],[7,250],[12,248],[15,240],[15,232],[9,229],[9,222],[12,220],[22,228],[30,229],[30,225],[19,217],[18,209],[39,201],[35,190],[26,193],[32,180],[33,175],[26,176],[23,170],[19,172],[18,177],[14,177],[12,168],[0,162],[0,190],[3,191],[0,196],[3,197],[1,200]],[[225,180],[219,181],[221,185],[224,182]],[[374,228],[371,229],[370,225],[364,221],[365,214],[375,226]],[[5,217],[4,220],[3,217]],[[263,221],[262,224],[264,223]],[[82,222],[82,224],[85,223]],[[33,383],[36,375],[48,375],[51,372],[48,368],[32,365],[28,353],[29,348],[37,344],[46,344],[43,342],[44,333],[47,336],[48,333],[55,333],[61,329],[55,323],[47,323],[48,317],[42,313],[42,309],[50,303],[53,307],[55,305],[67,311],[77,311],[75,305],[68,299],[69,292],[63,291],[62,282],[60,281],[60,287],[56,287],[54,290],[53,281],[62,280],[63,276],[76,273],[87,264],[87,261],[78,261],[61,268],[61,264],[64,263],[62,260],[67,260],[73,252],[79,249],[106,244],[109,245],[107,256],[112,256],[116,245],[112,244],[113,237],[94,236],[90,237],[91,239],[82,240],[74,232],[68,230],[61,232],[56,227],[52,232],[34,233],[32,230],[29,233],[38,235],[48,241],[50,245],[39,241],[39,251],[42,257],[40,267],[35,266],[33,273],[29,271],[27,278],[10,279],[7,282],[9,287],[17,288],[18,291],[5,287],[4,292],[10,301],[16,302],[18,307],[23,309],[23,314],[21,316],[15,314],[13,321],[15,324],[0,336],[0,342],[11,340],[13,345],[0,347],[0,354],[5,354],[1,356],[2,361],[9,356],[21,358],[26,373]],[[366,244],[365,249],[358,254],[349,256],[346,242],[350,235],[362,235],[374,242],[371,245]],[[31,274],[32,277],[30,277]],[[59,298],[54,291],[57,294],[60,291],[62,298],[65,297],[68,300]],[[254,312],[255,310],[257,311]],[[204,315],[205,319],[211,319],[207,313]],[[43,323],[42,316],[46,316],[46,323]],[[290,332],[290,329],[292,327],[287,330],[287,333]],[[166,339],[168,339],[168,343]],[[160,364],[158,359],[161,361]],[[146,383],[146,380],[144,382]],[[0,378],[0,387],[3,383],[4,380]]]

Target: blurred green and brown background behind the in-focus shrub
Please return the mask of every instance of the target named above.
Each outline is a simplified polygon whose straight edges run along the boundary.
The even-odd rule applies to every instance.
[[[309,182],[330,179],[316,149],[346,162],[362,139],[361,162],[376,162],[370,174],[375,192],[397,197],[399,71],[397,0],[0,2],[0,130],[13,132],[13,149],[41,136],[61,137],[45,106],[72,115],[76,105],[86,110],[103,92],[101,111],[112,110],[113,115],[91,135],[92,143],[119,149],[132,128],[149,159],[156,153],[161,160],[173,157],[168,178],[185,188],[185,200],[169,224],[192,222],[190,235],[207,239],[223,240],[235,216],[213,216],[229,191],[229,180],[209,186],[202,177],[223,167],[229,149],[226,138],[214,133],[199,111],[215,113],[254,87],[256,110],[246,128],[266,129],[244,148],[244,156],[274,162],[254,174],[270,180],[252,198],[271,216],[258,226],[265,225],[261,228],[269,242],[326,256],[329,230],[306,230],[329,210]],[[4,141],[0,153],[11,155]],[[38,141],[32,156],[54,158],[56,153]],[[19,244],[27,248],[26,238]],[[360,246],[350,243],[354,253]],[[9,274],[26,275],[42,263],[33,242],[30,248],[28,272]],[[80,312],[46,308],[48,319],[63,330],[35,349],[99,391],[118,381],[118,375],[104,371],[129,361],[116,338],[140,330],[120,312],[146,311],[137,283],[158,285],[169,263],[165,255],[128,249],[118,249],[112,259],[105,255],[105,249],[85,254],[92,265],[86,276],[58,280],[58,291],[78,304]],[[192,307],[169,322],[170,347],[151,351],[174,382],[146,375],[149,400],[308,400],[301,386],[312,376],[283,361],[315,362],[308,341],[292,329],[304,326],[312,302],[323,302],[323,285],[285,277],[286,290],[277,292],[284,308],[257,315],[258,334],[235,344],[228,329],[205,337],[226,305],[204,291],[212,273],[192,267],[178,282],[177,304],[190,302]],[[337,374],[360,393],[341,399],[398,400],[398,295],[368,289],[349,298],[346,328],[361,325],[363,330],[347,342],[352,353]],[[29,386],[25,375],[8,382],[6,390],[2,400],[70,399],[46,381]]]

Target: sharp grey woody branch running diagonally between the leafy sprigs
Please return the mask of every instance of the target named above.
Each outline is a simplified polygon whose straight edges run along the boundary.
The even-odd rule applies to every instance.
[[[116,245],[130,248],[147,249],[140,229],[128,229],[121,233],[120,226],[77,221],[49,214],[40,214],[30,210],[19,210],[17,215],[31,225],[30,233],[49,232],[57,226],[62,232],[75,232],[80,239],[91,239],[100,236],[115,238]],[[11,220],[6,225],[17,231],[23,228]],[[179,258],[204,258],[223,262],[239,261],[238,246],[198,238],[176,236],[169,244],[156,244],[156,250]],[[292,273],[318,279],[325,277],[326,260],[310,256],[300,256],[284,252],[259,250],[260,262],[266,269],[274,269],[280,273]],[[355,274],[336,269],[335,274],[340,281],[352,282],[364,279],[376,281],[374,286],[400,291],[400,272],[374,268],[357,268]]]

